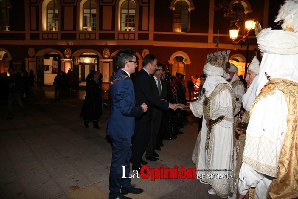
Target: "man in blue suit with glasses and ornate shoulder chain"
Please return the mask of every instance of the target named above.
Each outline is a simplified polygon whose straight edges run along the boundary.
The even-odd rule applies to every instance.
[[[125,177],[129,176],[131,158],[131,137],[134,135],[135,118],[147,111],[142,103],[135,107],[136,100],[130,74],[137,66],[136,52],[130,49],[120,50],[116,55],[119,68],[110,83],[111,115],[108,118],[106,132],[112,140],[112,160],[109,179],[109,198],[128,198],[123,194],[139,194],[143,189],[131,185],[130,178],[121,178],[122,166],[125,166]],[[121,193],[120,193],[121,188]]]

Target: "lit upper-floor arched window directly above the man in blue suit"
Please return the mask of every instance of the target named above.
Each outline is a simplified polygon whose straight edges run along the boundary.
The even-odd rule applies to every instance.
[[[121,4],[121,31],[135,31],[136,4],[127,0]]]

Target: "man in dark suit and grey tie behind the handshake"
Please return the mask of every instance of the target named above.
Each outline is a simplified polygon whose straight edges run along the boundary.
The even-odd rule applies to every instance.
[[[152,84],[153,95],[161,100],[165,100],[167,97],[167,82],[161,79],[163,73],[163,65],[157,63],[157,68],[155,69],[154,75],[151,77],[150,81]],[[159,132],[160,122],[162,120],[162,109],[153,105],[152,109],[152,120],[151,120],[151,137],[146,148],[146,159],[150,161],[158,160],[157,153],[154,151],[156,149],[156,139]],[[160,147],[159,147],[160,150]],[[155,156],[155,157],[154,157]]]

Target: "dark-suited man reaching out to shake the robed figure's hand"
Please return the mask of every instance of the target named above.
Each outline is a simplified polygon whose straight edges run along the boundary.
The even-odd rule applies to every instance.
[[[134,77],[134,91],[136,93],[136,105],[146,103],[148,105],[147,113],[142,114],[142,117],[136,118],[136,127],[132,145],[131,163],[133,170],[141,169],[141,158],[150,139],[150,126],[152,120],[152,105],[162,109],[172,108],[177,109],[176,104],[164,102],[153,95],[152,84],[150,82],[150,74],[153,74],[156,66],[156,56],[148,54],[142,62],[143,68]]]

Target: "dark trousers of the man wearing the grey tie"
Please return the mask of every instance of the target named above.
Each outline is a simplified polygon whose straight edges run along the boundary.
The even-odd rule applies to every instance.
[[[156,149],[156,140],[159,132],[160,121],[162,120],[162,112],[154,114],[151,120],[151,136],[146,148],[146,157],[153,156],[153,152]]]

